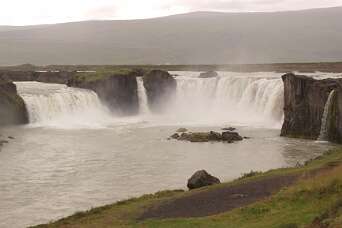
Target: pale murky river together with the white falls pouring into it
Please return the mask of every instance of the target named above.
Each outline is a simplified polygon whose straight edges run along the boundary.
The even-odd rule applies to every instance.
[[[333,147],[279,137],[280,75],[177,74],[177,94],[165,114],[149,112],[139,81],[141,113],[127,118],[109,114],[88,90],[17,83],[31,123],[0,129],[3,137],[14,137],[0,149],[0,227],[46,223],[145,193],[186,189],[199,169],[230,181],[251,170],[294,166]],[[251,138],[234,144],[167,140],[179,127],[227,126]]]

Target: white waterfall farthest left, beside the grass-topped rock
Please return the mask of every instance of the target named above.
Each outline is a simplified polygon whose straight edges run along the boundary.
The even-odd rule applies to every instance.
[[[111,119],[93,91],[40,82],[16,82],[16,85],[31,124],[98,127]]]

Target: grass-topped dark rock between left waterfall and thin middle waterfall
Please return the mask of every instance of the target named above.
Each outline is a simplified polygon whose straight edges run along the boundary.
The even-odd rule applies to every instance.
[[[77,75],[69,80],[68,86],[90,89],[97,93],[100,100],[116,114],[134,115],[139,112],[137,92],[137,73],[117,73],[102,75]]]

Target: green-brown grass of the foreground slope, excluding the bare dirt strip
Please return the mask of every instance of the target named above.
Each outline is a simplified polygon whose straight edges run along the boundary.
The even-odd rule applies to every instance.
[[[213,188],[257,181],[269,176],[293,173],[305,175],[314,170],[319,170],[317,175],[303,178],[295,185],[283,189],[267,200],[216,216],[137,221],[136,218],[152,204],[193,194],[193,192],[166,191],[92,209],[84,213],[77,213],[55,223],[39,227],[291,228],[314,227],[310,224],[315,219],[317,223],[329,224],[331,227],[342,227],[342,149],[330,151],[324,156],[308,162],[304,167],[272,170],[197,191],[210,191]]]

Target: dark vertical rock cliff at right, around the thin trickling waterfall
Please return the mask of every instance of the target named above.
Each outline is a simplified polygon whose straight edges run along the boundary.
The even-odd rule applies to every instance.
[[[317,139],[325,104],[332,90],[336,91],[329,123],[329,140],[342,142],[342,79],[316,80],[286,74],[284,82],[284,124],[282,136]]]

